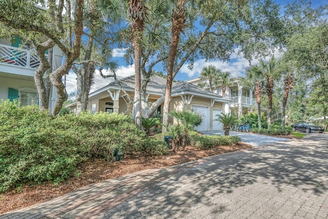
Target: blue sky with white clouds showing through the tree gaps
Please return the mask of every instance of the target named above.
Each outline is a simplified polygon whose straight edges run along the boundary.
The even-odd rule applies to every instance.
[[[288,1],[283,0],[277,0],[276,3],[281,5],[281,12],[283,12],[284,8],[283,6],[288,3]],[[292,2],[292,1],[289,1]],[[325,5],[327,4],[327,0],[313,0],[312,4],[313,7],[316,8],[319,5]],[[203,67],[208,65],[214,65],[217,69],[220,69],[221,71],[229,71],[231,73],[232,77],[242,77],[244,74],[245,68],[247,68],[250,65],[250,62],[241,57],[237,56],[238,48],[235,49],[236,51],[231,54],[230,61],[229,62],[221,62],[221,61],[209,61],[206,62],[204,59],[199,59],[195,61],[194,68],[192,70],[188,69],[188,63],[186,62],[176,75],[175,79],[180,81],[186,81],[191,78],[199,77],[199,74]],[[127,65],[124,60],[124,54],[126,52],[126,49],[124,48],[116,48],[113,50],[113,58],[112,61],[115,61],[118,64],[118,69],[116,71],[117,77],[124,78],[130,75],[134,74],[134,64],[133,65]],[[279,53],[277,50],[274,52],[275,56],[281,56],[281,53]],[[253,59],[252,63],[257,62],[258,59]],[[153,70],[156,71],[162,71],[166,74],[166,71],[162,69],[162,65],[159,63],[157,64]],[[104,73],[104,72],[103,72]],[[67,82],[67,92],[72,93],[76,90],[76,75],[72,72],[67,75],[66,82]],[[104,87],[108,85],[110,82],[113,81],[113,78],[104,79],[100,76],[99,72],[96,71],[95,79],[94,79],[94,85],[91,92],[100,89],[101,87]]]

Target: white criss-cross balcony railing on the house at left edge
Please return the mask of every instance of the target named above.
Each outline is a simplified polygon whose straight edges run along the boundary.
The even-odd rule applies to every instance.
[[[27,49],[0,44],[0,63],[36,69],[40,65],[38,56]]]

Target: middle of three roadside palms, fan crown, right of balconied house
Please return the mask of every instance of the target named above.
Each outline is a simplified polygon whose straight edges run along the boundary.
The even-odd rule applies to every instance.
[[[268,94],[268,130],[271,126],[271,112],[272,112],[272,95],[274,82],[280,77],[280,59],[272,56],[268,61],[263,59],[259,62],[259,71],[262,76],[265,78],[265,90]]]

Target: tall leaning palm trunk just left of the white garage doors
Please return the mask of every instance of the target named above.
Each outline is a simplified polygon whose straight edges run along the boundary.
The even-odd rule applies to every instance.
[[[167,126],[169,124],[169,115],[170,112],[170,104],[171,104],[171,92],[172,92],[172,82],[173,82],[173,67],[175,56],[177,52],[177,47],[180,39],[180,33],[182,31],[183,24],[181,21],[176,21],[172,19],[172,39],[169,50],[169,58],[168,58],[168,77],[166,83],[166,91],[165,91],[165,101],[164,101],[164,113],[163,113],[163,125]],[[165,127],[163,127],[163,133],[166,132]]]

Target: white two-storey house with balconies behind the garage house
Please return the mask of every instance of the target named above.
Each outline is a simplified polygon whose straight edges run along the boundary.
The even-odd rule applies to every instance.
[[[202,80],[200,77],[189,79],[189,83],[194,85],[198,84],[206,84],[204,89],[210,90],[210,86],[208,80]],[[214,93],[222,95],[221,87],[212,86],[212,90]],[[257,103],[255,100],[254,91],[252,88],[247,86],[242,86],[240,83],[240,78],[234,78],[233,83],[231,83],[226,89],[226,93],[224,94],[224,98],[230,99],[230,103],[224,106],[224,112],[236,114],[239,116],[243,114],[247,114],[252,108],[257,107]]]

